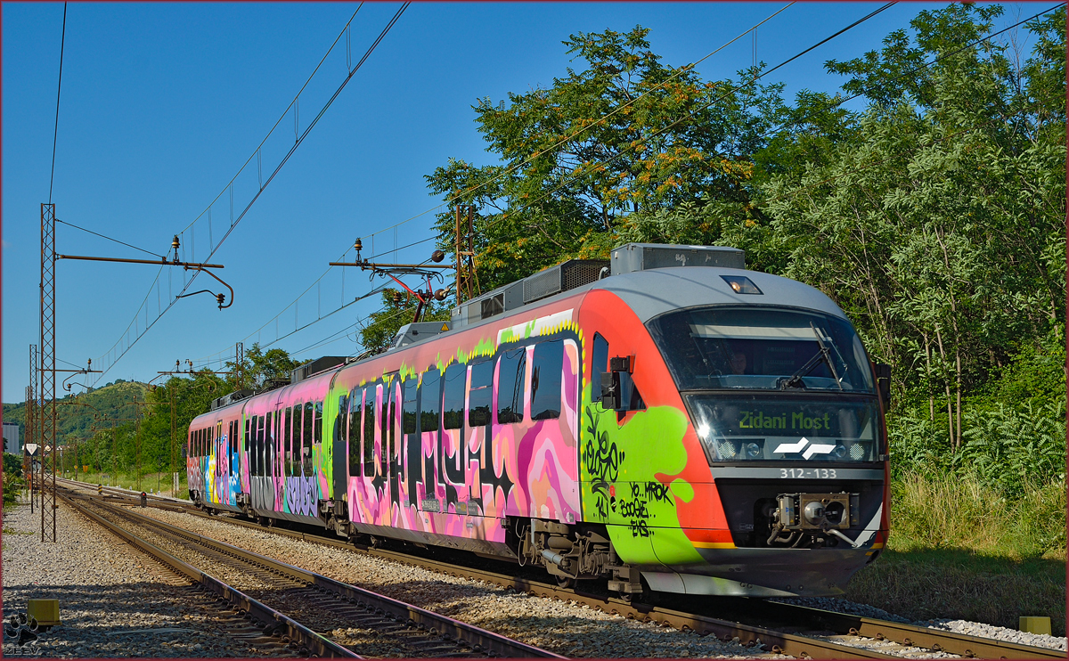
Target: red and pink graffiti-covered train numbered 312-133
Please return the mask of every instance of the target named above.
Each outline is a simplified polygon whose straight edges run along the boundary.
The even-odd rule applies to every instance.
[[[887,539],[887,371],[740,250],[629,244],[218,400],[189,493],[624,597],[834,595]]]

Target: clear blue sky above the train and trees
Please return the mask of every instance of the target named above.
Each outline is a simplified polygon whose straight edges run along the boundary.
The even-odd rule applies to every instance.
[[[363,237],[368,256],[373,234],[376,252],[431,235],[433,214],[424,212],[440,200],[428,194],[423,175],[450,157],[492,162],[470,106],[479,97],[497,102],[510,91],[548,87],[566,75],[570,62],[560,42],[570,33],[642,25],[652,29],[649,39],[662,61],[681,65],[785,4],[415,3],[214,256],[212,261],[226,265],[219,275],[236,291],[234,305],[220,311],[206,294],[183,298],[115,362],[118,354],[109,351],[135,316],[130,339],[187,276],[165,271],[153,288],[156,266],[60,261],[57,345],[58,358],[66,362],[60,367],[92,358],[94,367],[109,367],[97,385],[118,378],[149,381],[175,359],[201,365],[229,356],[239,340],[270,344],[381,283],[350,270],[343,290],[341,270],[335,268],[313,286],[354,239]],[[172,235],[208,207],[253,153],[356,6],[68,5],[52,193],[57,216],[166,252]],[[375,2],[360,9],[348,40],[352,62],[399,6]],[[777,64],[878,6],[795,4],[758,29],[757,56]],[[840,79],[824,73],[824,61],[877,48],[886,33],[935,6],[897,4],[771,79],[786,83],[788,97],[804,88],[834,92]],[[1044,5],[1006,6],[1004,20],[1011,22]],[[2,12],[2,395],[15,402],[24,399],[28,348],[37,341],[40,204],[48,199],[63,4],[4,3]],[[346,41],[301,94],[298,130],[343,79]],[[706,60],[699,73],[706,79],[733,76],[750,64],[753,47],[746,36]],[[293,141],[291,111],[263,150],[264,178]],[[235,184],[235,213],[258,187],[255,164]],[[229,194],[212,215],[211,239],[218,243],[230,224]],[[192,255],[186,234],[186,258],[206,257],[208,232],[204,216],[193,227]],[[422,244],[397,259],[421,261],[430,249]],[[148,257],[65,225],[58,229],[58,251]],[[205,288],[220,291],[204,276],[190,291]],[[352,354],[356,335],[350,326],[378,305],[377,296],[370,297],[273,345],[304,359]]]

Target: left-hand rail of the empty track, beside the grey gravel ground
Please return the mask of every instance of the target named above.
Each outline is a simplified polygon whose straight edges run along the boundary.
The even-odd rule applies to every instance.
[[[238,610],[247,613],[250,617],[270,626],[276,632],[283,632],[283,635],[289,635],[290,640],[297,642],[303,645],[310,652],[315,654],[320,657],[335,657],[335,658],[350,658],[350,659],[362,659],[363,657],[354,654],[353,651],[328,641],[319,633],[315,633],[308,627],[305,627],[300,622],[286,617],[282,613],[279,613],[275,609],[272,609],[260,601],[257,601],[252,597],[249,597],[245,593],[227,585],[222,581],[207,574],[200,569],[197,569],[192,565],[182,560],[167,551],[164,551],[159,547],[148,542],[140,537],[134,535],[129,531],[115,525],[114,523],[108,521],[107,519],[100,517],[99,514],[89,511],[87,508],[78,505],[73,498],[65,495],[57,494],[57,497],[61,498],[72,508],[74,508],[78,513],[95,521],[100,524],[112,534],[124,539],[127,543],[136,547],[149,554],[150,556],[156,558],[164,565],[167,565],[175,572],[183,574],[193,581],[199,583],[205,589],[214,593],[218,597],[229,601],[231,604],[236,606]],[[83,496],[84,497],[84,496]],[[274,625],[269,625],[274,622]]]

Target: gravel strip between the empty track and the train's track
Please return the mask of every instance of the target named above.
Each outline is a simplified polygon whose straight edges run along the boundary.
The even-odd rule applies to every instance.
[[[569,657],[756,656],[755,649],[735,643],[629,620],[574,602],[517,595],[481,581],[448,577],[184,513],[151,508],[137,511]]]

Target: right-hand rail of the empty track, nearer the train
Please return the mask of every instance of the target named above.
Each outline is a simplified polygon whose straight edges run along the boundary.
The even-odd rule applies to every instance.
[[[246,562],[251,562],[259,564],[261,566],[267,567],[274,571],[277,571],[283,575],[289,575],[298,581],[301,581],[308,585],[322,588],[337,595],[342,596],[351,601],[361,602],[372,606],[373,609],[381,610],[383,613],[397,618],[400,621],[410,622],[412,625],[419,628],[433,629],[437,631],[443,636],[453,640],[459,640],[467,643],[475,649],[479,649],[485,652],[501,657],[515,657],[515,658],[551,658],[551,659],[567,659],[563,657],[533,645],[527,645],[526,643],[521,643],[520,641],[514,641],[507,636],[503,636],[492,631],[487,631],[480,627],[469,625],[467,622],[453,619],[451,617],[434,613],[433,611],[428,611],[427,609],[421,609],[417,605],[405,603],[403,601],[393,599],[391,597],[386,597],[371,590],[357,587],[355,585],[350,585],[347,583],[342,583],[336,581],[328,577],[301,569],[300,567],[295,567],[288,563],[281,560],[276,560],[266,555],[261,555],[259,553],[242,549],[227,542],[206,537],[184,528],[171,525],[158,519],[152,517],[145,517],[128,509],[124,509],[122,513],[126,517],[135,519],[138,523],[150,527],[157,527],[166,531],[172,535],[184,537],[196,541],[197,543],[213,549],[220,553],[226,553],[228,555],[233,555]],[[263,528],[260,528],[263,529]],[[352,549],[352,547],[348,547]]]

